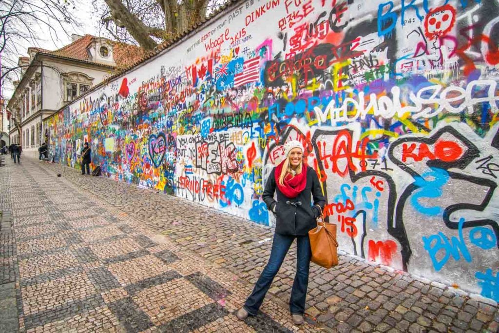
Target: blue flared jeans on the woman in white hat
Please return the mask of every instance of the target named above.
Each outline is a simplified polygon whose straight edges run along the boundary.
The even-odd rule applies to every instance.
[[[245,310],[251,316],[256,316],[265,294],[267,293],[272,281],[279,271],[279,268],[286,257],[289,247],[296,239],[297,258],[296,275],[294,277],[293,288],[291,289],[291,298],[289,300],[289,311],[293,315],[303,315],[305,312],[305,298],[307,296],[308,272],[310,269],[310,240],[305,236],[288,236],[275,233],[272,242],[272,250],[267,266],[263,269],[256,281],[253,292],[246,300]]]

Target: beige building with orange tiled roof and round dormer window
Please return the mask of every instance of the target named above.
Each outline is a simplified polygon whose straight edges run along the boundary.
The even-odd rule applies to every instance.
[[[24,155],[37,157],[38,147],[46,141],[43,119],[142,52],[106,38],[73,34],[72,42],[58,50],[30,47],[28,55],[18,61],[21,79],[14,82],[7,105],[12,114],[8,135],[11,143],[22,146]]]

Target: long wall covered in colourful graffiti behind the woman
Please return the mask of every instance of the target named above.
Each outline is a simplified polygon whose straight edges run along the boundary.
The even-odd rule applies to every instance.
[[[343,250],[499,301],[496,0],[249,0],[45,121],[54,160],[255,223],[299,140]],[[161,212],[158,212],[160,214]]]

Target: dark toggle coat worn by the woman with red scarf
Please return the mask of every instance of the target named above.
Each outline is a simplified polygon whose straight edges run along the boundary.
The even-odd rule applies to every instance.
[[[326,199],[322,195],[319,178],[314,169],[307,167],[306,172],[305,189],[294,199],[286,198],[277,187],[275,168],[267,178],[262,197],[268,210],[272,211],[274,205],[276,206],[275,232],[278,234],[304,236],[317,226],[315,219],[320,215],[320,210],[312,207],[310,194],[313,196],[313,205],[319,205],[321,210],[324,209]],[[274,192],[277,192],[277,201],[274,200]]]

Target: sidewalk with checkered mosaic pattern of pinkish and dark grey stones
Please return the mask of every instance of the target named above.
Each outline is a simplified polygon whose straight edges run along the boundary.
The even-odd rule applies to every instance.
[[[237,275],[37,161],[8,162],[0,169],[0,310],[13,310],[15,325],[1,332],[16,324],[20,332],[314,331],[293,326],[272,300],[238,321],[251,286]]]

